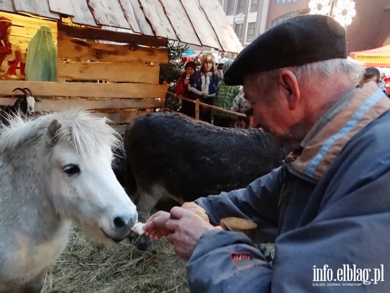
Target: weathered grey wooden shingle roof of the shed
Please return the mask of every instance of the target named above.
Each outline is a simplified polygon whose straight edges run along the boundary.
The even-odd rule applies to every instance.
[[[1,0],[0,11],[69,17],[80,25],[131,30],[224,52],[242,50],[218,0]]]

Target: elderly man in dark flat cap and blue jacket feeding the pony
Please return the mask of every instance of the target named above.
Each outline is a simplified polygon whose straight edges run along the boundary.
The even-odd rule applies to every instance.
[[[175,207],[146,224],[187,262],[191,292],[389,292],[390,100],[347,61],[344,28],[303,15],[271,28],[225,73],[254,122],[292,149],[247,188],[199,198],[210,223]],[[260,147],[260,146],[259,146]],[[227,216],[278,229],[270,265]]]

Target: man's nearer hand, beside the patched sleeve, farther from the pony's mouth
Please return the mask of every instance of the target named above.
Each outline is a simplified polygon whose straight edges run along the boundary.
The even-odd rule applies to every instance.
[[[172,231],[167,235],[167,240],[174,246],[176,254],[184,260],[191,257],[196,243],[204,232],[222,230],[221,227],[214,227],[195,213],[179,207],[171,209],[171,217],[166,221],[165,228]]]

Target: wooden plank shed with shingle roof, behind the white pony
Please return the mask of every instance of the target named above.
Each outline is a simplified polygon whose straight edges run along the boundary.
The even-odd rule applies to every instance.
[[[168,40],[242,49],[218,0],[1,0],[0,16],[12,21],[9,41],[21,51],[42,24],[58,47],[57,82],[0,76],[0,105],[27,87],[38,111],[81,107],[116,123],[163,108]]]

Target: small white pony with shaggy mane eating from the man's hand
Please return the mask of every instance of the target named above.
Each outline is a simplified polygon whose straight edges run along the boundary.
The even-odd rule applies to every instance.
[[[0,131],[0,293],[40,292],[72,222],[120,241],[137,210],[111,168],[120,142],[105,119],[72,109]]]

